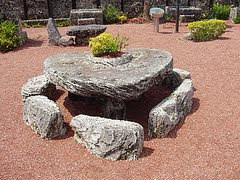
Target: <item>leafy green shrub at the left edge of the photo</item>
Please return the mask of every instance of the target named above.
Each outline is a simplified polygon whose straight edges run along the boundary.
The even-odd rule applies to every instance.
[[[4,21],[0,24],[0,51],[7,52],[17,48],[24,39],[18,35],[18,25],[12,21]]]

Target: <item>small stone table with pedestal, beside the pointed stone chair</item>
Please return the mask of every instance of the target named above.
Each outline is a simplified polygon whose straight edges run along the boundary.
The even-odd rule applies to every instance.
[[[105,32],[107,29],[104,25],[82,25],[74,26],[67,31],[68,36],[76,36],[75,43],[77,45],[88,45],[91,37],[96,37]]]

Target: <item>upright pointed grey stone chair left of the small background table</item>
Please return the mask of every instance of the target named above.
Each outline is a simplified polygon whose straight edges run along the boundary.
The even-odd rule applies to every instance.
[[[70,46],[74,43],[72,37],[62,37],[52,18],[49,18],[48,25],[48,45],[49,46]]]

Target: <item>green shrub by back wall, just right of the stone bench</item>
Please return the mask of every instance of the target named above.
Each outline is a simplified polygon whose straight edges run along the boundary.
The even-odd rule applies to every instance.
[[[112,5],[106,6],[103,10],[104,23],[106,24],[118,23],[119,16],[122,16],[122,12],[118,8],[113,7]]]

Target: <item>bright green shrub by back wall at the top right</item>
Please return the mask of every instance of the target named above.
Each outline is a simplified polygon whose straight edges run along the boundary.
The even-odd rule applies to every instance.
[[[227,20],[231,11],[230,5],[222,5],[219,3],[213,4],[211,17],[215,19]]]

